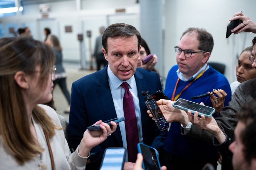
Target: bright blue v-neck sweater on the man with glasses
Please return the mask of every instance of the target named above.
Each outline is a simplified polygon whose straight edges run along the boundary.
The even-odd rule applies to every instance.
[[[171,99],[172,93],[174,91],[178,76],[177,71],[178,66],[174,66],[170,69],[165,85],[165,95]],[[191,83],[191,81],[178,81],[175,96],[179,94],[186,85]],[[219,73],[217,70],[213,69],[211,66],[204,72],[204,74],[194,81],[188,89],[182,92],[178,98],[184,98],[196,103],[203,102],[206,106],[212,107],[210,97],[206,96],[203,98],[198,98],[192,100],[191,97],[200,94],[212,92],[213,89],[222,89],[226,92],[227,96],[225,98],[224,106],[228,105],[231,100],[231,89],[228,80],[223,74]],[[214,114],[214,117],[217,115]],[[213,146],[212,143],[207,143],[196,138],[181,135],[180,132],[181,124],[178,122],[171,123],[170,130],[167,132],[167,139],[164,141],[164,149],[172,155],[181,157],[184,159],[200,160],[200,159],[218,159],[218,151]]]

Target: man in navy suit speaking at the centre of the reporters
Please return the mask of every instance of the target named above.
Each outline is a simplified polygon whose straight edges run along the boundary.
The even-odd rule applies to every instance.
[[[102,51],[108,65],[75,81],[72,85],[68,130],[69,144],[73,149],[79,145],[84,131],[95,120],[106,121],[124,117],[125,91],[121,84],[127,82],[134,101],[138,140],[160,151],[166,132],[160,131],[148,116],[141,92],[149,90],[152,93],[162,88],[156,72],[137,68],[140,42],[138,30],[128,24],[112,24],[103,33]],[[100,168],[103,152],[107,147],[127,147],[124,121],[119,123],[116,132],[105,142],[92,148],[90,163],[88,162],[86,169]],[[133,166],[134,163],[126,162],[124,169],[133,169]]]

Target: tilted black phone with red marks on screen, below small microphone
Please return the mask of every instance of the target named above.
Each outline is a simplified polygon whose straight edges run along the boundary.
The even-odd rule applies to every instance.
[[[152,116],[155,119],[158,128],[162,131],[169,128],[169,123],[165,120],[164,115],[162,114],[160,108],[156,104],[155,100],[147,100],[146,106],[150,110]]]

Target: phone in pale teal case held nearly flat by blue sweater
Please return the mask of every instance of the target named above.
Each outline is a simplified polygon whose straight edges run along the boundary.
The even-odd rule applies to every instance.
[[[204,115],[207,118],[211,117],[212,114],[215,112],[215,109],[212,107],[191,102],[183,98],[179,98],[176,102],[172,103],[172,106],[177,109],[184,110],[186,112],[191,111],[192,114],[194,114],[197,111],[198,115]]]

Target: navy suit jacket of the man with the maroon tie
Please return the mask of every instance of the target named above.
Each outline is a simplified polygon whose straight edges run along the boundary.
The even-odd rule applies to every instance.
[[[143,142],[160,151],[166,137],[166,131],[160,131],[147,113],[142,91],[150,94],[162,90],[156,72],[137,68],[135,81],[138,89],[139,105],[142,120]],[[121,100],[121,99],[120,99]],[[117,118],[114,102],[108,83],[107,66],[95,73],[87,75],[72,84],[71,108],[69,115],[69,146],[73,149],[79,145],[84,131],[98,120],[106,121]],[[92,148],[90,163],[86,169],[99,169],[103,152],[107,147],[123,147],[119,126],[117,130],[100,145]]]

